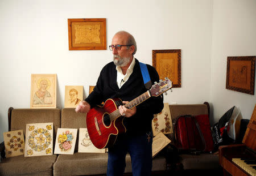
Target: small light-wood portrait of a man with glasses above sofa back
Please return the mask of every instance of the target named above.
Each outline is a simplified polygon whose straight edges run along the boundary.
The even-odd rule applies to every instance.
[[[64,108],[76,108],[83,99],[82,85],[65,85],[65,103]]]

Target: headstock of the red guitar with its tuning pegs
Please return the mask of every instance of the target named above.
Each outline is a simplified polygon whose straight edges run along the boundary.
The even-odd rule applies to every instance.
[[[172,88],[172,81],[166,78],[166,80],[160,81],[159,83],[152,85],[149,91],[151,96],[157,97],[171,88]]]

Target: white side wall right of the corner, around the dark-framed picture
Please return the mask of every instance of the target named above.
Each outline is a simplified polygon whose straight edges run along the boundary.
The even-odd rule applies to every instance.
[[[250,119],[256,103],[255,95],[226,89],[228,56],[256,55],[256,1],[214,0],[211,55],[210,102],[214,120],[234,105],[243,118]]]

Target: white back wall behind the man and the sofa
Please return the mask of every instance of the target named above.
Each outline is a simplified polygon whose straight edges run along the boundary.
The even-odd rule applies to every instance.
[[[209,101],[213,104],[216,118],[229,108],[225,101],[218,98],[223,95],[230,94],[229,98],[241,96],[242,104],[250,98],[247,106],[251,106],[255,96],[225,90],[224,79],[227,55],[255,55],[255,44],[252,42],[255,41],[255,33],[253,29],[247,29],[251,27],[251,21],[240,19],[243,28],[238,25],[234,32],[225,29],[225,23],[236,24],[229,22],[225,16],[229,11],[236,18],[240,18],[236,14],[240,10],[243,10],[243,18],[255,18],[255,12],[252,12],[255,1],[250,1],[249,5],[243,2],[236,1],[233,5],[231,0],[1,0],[0,141],[3,140],[2,132],[8,130],[8,108],[30,107],[31,74],[57,74],[57,108],[61,109],[64,106],[65,85],[84,85],[85,97],[88,96],[89,85],[96,84],[101,68],[112,61],[109,50],[69,51],[68,18],[106,18],[107,45],[110,45],[115,32],[126,30],[137,40],[135,57],[150,65],[153,49],[181,49],[181,88],[174,88],[172,93],[168,93],[165,102],[201,104]],[[229,9],[230,4],[238,11]],[[244,4],[251,12],[245,10]],[[255,29],[255,22],[253,27]],[[225,36],[229,35],[228,32],[235,35],[243,29],[245,33],[236,40],[236,36]],[[234,42],[245,41],[243,36],[250,36],[248,40],[251,41],[243,48],[233,48],[232,45],[236,45]],[[220,48],[220,44],[229,44],[229,50]],[[240,49],[239,53],[236,53],[237,49]],[[214,76],[210,76],[211,72]],[[233,97],[232,101],[230,105],[240,105],[238,97]],[[251,113],[251,107],[246,109],[247,106],[243,106],[242,110]]]

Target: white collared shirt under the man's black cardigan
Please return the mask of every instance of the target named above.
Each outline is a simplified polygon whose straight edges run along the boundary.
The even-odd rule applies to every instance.
[[[117,85],[119,88],[122,87],[123,84],[129,79],[130,75],[133,73],[133,68],[135,66],[135,58],[133,57],[133,61],[131,61],[131,65],[126,71],[126,74],[123,75],[122,68],[120,66],[115,67],[117,69]]]

